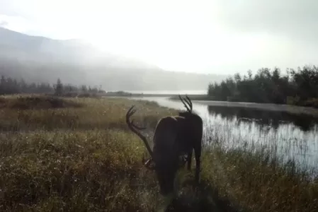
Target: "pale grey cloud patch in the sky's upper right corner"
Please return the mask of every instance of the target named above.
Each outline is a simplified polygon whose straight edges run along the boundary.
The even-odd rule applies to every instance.
[[[239,32],[266,32],[307,40],[318,35],[316,0],[217,1],[220,23]],[[307,40],[308,41],[308,40]]]

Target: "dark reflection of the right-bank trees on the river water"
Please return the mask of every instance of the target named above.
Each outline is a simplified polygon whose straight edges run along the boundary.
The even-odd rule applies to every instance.
[[[218,115],[222,119],[236,122],[258,124],[260,129],[278,130],[281,124],[293,124],[302,131],[311,131],[315,129],[318,119],[308,114],[291,114],[283,111],[260,110],[250,107],[224,107],[224,106],[208,106],[208,112],[212,117]]]

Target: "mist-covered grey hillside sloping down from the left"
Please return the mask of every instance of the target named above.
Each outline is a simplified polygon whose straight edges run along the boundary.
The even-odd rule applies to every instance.
[[[52,40],[6,28],[0,28],[0,74],[35,83],[61,78],[62,83],[101,85],[104,90],[205,90],[226,77],[165,71],[81,40]]]

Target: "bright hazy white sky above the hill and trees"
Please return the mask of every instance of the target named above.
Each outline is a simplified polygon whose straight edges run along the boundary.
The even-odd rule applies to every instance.
[[[318,61],[317,11],[317,0],[0,0],[0,25],[171,71],[246,73]]]

